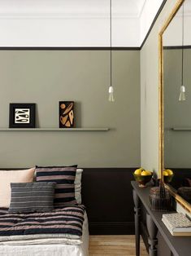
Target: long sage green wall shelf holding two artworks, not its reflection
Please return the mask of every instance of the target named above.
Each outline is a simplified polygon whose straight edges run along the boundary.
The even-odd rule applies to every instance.
[[[107,131],[109,128],[0,128],[0,131]]]

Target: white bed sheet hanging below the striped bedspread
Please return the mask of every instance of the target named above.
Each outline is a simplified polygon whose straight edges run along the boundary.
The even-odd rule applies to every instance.
[[[85,212],[81,245],[0,245],[1,256],[88,256],[89,224]]]

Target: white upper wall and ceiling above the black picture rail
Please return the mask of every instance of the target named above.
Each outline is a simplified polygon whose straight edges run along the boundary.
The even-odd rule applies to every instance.
[[[163,0],[112,0],[112,46],[141,46]],[[0,46],[110,46],[110,0],[0,0]]]

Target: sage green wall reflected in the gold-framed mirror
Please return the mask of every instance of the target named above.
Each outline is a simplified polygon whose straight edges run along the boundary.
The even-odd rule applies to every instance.
[[[190,168],[191,131],[191,49],[184,49],[184,86],[186,100],[179,101],[181,85],[181,50],[164,51],[164,165],[168,168]]]

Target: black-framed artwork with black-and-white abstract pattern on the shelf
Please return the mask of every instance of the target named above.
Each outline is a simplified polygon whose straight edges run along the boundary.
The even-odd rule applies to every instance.
[[[9,128],[35,128],[35,104],[11,103]]]

